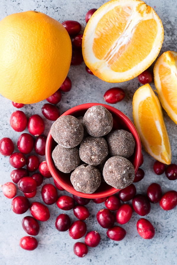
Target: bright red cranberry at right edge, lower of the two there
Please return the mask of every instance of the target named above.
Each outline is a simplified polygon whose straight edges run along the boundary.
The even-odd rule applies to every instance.
[[[160,199],[160,207],[163,210],[172,210],[177,205],[177,192],[175,190],[167,191]]]

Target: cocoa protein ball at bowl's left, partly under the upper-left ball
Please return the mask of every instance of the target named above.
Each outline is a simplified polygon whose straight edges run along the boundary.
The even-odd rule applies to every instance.
[[[71,172],[81,162],[77,147],[65,148],[59,144],[54,148],[52,158],[55,167],[63,173]]]

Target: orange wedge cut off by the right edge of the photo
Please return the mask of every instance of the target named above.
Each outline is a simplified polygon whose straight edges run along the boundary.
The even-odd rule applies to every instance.
[[[154,83],[162,107],[177,124],[177,52],[160,55],[154,65]]]

